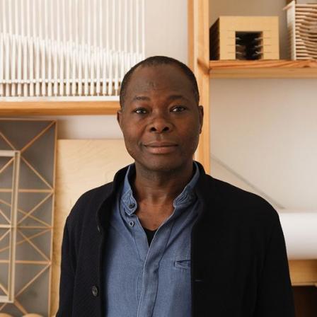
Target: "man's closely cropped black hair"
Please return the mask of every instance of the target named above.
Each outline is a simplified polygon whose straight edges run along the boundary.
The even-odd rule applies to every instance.
[[[141,62],[137,63],[132,67],[127,74],[122,79],[121,88],[120,88],[120,107],[123,108],[125,104],[125,95],[127,93],[127,86],[129,85],[130,79],[132,74],[134,73],[135,69],[138,67],[151,67],[151,66],[158,66],[158,65],[176,65],[179,67],[185,76],[190,80],[192,83],[192,92],[194,93],[195,100],[198,103],[200,102],[200,93],[198,91],[197,80],[195,74],[191,71],[191,69],[186,66],[184,63],[174,59],[172,57],[167,56],[151,56],[148,57]]]

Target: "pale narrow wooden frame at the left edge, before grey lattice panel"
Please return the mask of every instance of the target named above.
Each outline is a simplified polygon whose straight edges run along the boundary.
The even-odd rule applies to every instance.
[[[9,233],[9,253],[8,253],[8,285],[7,289],[3,285],[1,289],[6,296],[0,296],[0,303],[13,303],[14,301],[14,287],[15,287],[15,272],[16,272],[16,219],[18,213],[18,179],[20,170],[20,151],[0,150],[0,156],[11,157],[12,159],[1,168],[4,171],[10,163],[13,164],[12,173],[12,188],[11,188],[11,219],[0,210],[2,216],[8,221],[8,224],[0,224],[0,229],[8,229],[4,235],[1,236],[0,241]],[[1,173],[0,172],[0,173]]]

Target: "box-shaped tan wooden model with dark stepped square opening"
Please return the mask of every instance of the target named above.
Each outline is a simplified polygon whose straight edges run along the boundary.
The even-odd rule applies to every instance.
[[[279,59],[277,16],[220,16],[210,28],[211,59]]]

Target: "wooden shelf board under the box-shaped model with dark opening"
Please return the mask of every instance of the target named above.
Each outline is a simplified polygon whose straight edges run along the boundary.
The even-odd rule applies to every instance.
[[[235,78],[316,78],[316,60],[210,61],[209,77]]]

